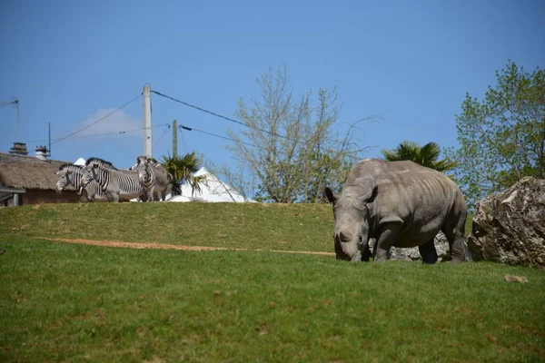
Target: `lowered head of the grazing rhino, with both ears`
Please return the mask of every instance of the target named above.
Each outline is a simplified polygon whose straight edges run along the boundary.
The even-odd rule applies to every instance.
[[[330,187],[325,187],[323,193],[333,204],[333,240],[337,260],[362,260],[362,252],[369,249],[371,215],[367,204],[376,197],[377,187],[365,193],[345,189],[341,195],[336,195]]]

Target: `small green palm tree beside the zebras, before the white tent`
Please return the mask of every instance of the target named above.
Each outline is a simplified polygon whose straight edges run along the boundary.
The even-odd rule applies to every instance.
[[[182,195],[182,182],[189,182],[192,189],[192,196],[195,191],[201,192],[201,185],[205,183],[206,176],[194,176],[195,172],[201,169],[201,161],[195,156],[195,152],[188,153],[183,157],[178,155],[168,156],[163,155],[163,166],[171,173],[173,179],[172,193],[173,195]]]

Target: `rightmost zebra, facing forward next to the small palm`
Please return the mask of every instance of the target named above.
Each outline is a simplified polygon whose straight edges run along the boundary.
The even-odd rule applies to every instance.
[[[148,201],[154,201],[157,194],[157,200],[166,199],[166,193],[173,176],[159,163],[154,163],[152,158],[138,156],[136,164],[131,167],[138,172],[138,178],[148,196]]]

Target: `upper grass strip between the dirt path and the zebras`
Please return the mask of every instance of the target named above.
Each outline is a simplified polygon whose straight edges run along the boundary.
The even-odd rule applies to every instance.
[[[51,204],[0,210],[0,233],[188,246],[332,251],[328,205]]]

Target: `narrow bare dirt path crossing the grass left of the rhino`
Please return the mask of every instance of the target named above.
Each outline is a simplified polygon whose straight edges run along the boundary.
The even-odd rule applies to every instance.
[[[123,249],[153,249],[153,250],[248,250],[248,249],[226,249],[223,247],[206,247],[206,246],[179,246],[175,244],[163,244],[163,243],[141,243],[141,242],[124,242],[117,240],[70,240],[63,238],[46,238],[37,237],[40,240],[53,240],[55,242],[87,244],[92,246],[103,247],[117,247]],[[256,249],[261,250],[261,249]],[[271,252],[279,253],[301,253],[307,255],[322,255],[322,256],[334,256],[332,252],[313,252],[310,250],[270,250]]]

